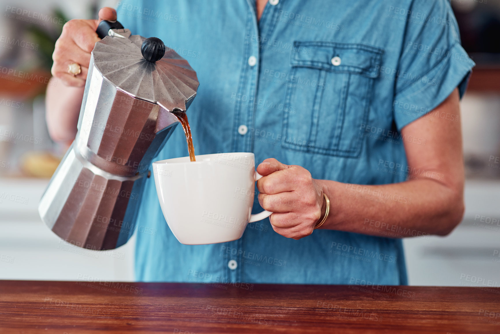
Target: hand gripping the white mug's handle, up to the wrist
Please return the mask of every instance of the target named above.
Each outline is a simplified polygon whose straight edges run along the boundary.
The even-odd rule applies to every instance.
[[[311,234],[321,217],[323,192],[309,171],[271,158],[258,165],[257,172],[263,175],[257,181],[258,201],[273,212],[272,229],[293,239]]]

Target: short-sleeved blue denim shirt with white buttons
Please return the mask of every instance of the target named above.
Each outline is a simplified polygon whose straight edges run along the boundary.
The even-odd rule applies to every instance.
[[[259,22],[254,3],[118,4],[125,28],[160,38],[196,71],[199,89],[187,111],[196,154],[253,152],[256,163],[276,158],[316,179],[402,182],[409,170],[403,141],[425,145],[425,139],[403,138],[401,128],[422,115],[457,121],[429,113],[454,88],[463,94],[474,65],[447,1],[279,0],[266,4]],[[187,153],[179,126],[153,160]],[[346,186],[349,194],[402,206],[412,201],[355,186]],[[255,197],[253,213],[261,210]],[[367,232],[384,226],[372,217],[358,223]],[[182,245],[165,222],[151,177],[137,218],[136,279],[407,284],[401,240],[390,237],[395,228],[383,229],[387,237],[315,230],[293,240],[265,219],[248,224],[239,240]]]

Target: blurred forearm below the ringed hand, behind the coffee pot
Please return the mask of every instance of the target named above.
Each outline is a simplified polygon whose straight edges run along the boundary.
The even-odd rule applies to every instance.
[[[84,87],[65,86],[60,82],[47,86],[46,121],[52,140],[69,142],[74,139],[83,91]]]

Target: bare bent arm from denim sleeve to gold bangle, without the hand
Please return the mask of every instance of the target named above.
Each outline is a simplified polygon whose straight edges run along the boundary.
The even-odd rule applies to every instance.
[[[458,90],[437,110],[459,119]],[[403,141],[409,180],[361,187],[318,180],[332,199],[329,218],[322,228],[404,237],[418,232],[445,235],[460,222],[464,211],[460,122],[419,118],[405,126],[401,134],[425,139],[425,145]]]

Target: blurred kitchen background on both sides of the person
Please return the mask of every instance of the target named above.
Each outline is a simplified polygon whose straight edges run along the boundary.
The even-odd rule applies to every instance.
[[[0,279],[133,280],[134,238],[115,250],[84,250],[61,241],[37,213],[66,150],[50,140],[44,120],[55,40],[67,20],[95,19],[116,4],[0,0],[0,194],[15,195],[0,198]],[[500,286],[500,0],[451,4],[477,64],[461,101],[466,211],[446,237],[404,240],[409,283]]]

